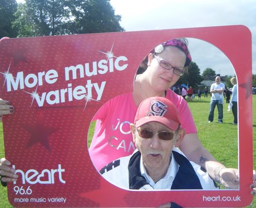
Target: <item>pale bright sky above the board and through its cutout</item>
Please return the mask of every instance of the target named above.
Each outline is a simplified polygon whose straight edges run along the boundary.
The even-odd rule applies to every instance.
[[[211,27],[243,24],[252,32],[253,73],[256,74],[255,0],[111,0],[115,14],[122,16],[126,31]],[[234,75],[228,58],[215,46],[189,38],[193,61],[201,72],[210,67],[216,73]],[[213,58],[214,57],[214,58]]]

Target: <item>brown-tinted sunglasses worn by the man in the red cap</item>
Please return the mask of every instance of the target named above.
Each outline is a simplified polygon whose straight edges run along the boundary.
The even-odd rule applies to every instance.
[[[176,135],[176,133],[173,133],[170,131],[154,132],[147,128],[140,128],[140,129],[136,129],[136,130],[137,130],[137,132],[139,132],[139,136],[142,138],[152,138],[156,133],[157,136],[160,138],[160,140],[172,140],[174,135]]]

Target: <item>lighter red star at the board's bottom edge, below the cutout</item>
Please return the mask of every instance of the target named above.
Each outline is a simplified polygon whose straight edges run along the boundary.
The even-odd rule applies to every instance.
[[[95,201],[100,207],[129,206],[125,202],[126,190],[111,185],[103,177],[100,180],[100,189],[84,192],[80,196]]]

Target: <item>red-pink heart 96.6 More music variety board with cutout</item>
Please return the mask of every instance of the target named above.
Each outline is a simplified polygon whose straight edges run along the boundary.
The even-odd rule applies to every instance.
[[[97,110],[112,97],[132,92],[137,68],[147,53],[178,37],[213,44],[235,69],[239,190],[124,190],[104,180],[91,162],[87,134]],[[252,201],[252,42],[248,28],[4,39],[0,70],[1,97],[15,107],[13,115],[3,117],[6,158],[19,175],[17,182],[8,185],[13,206],[156,207],[173,201],[184,207],[241,207]]]

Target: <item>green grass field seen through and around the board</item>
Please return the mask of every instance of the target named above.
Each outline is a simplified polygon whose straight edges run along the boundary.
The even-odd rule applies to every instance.
[[[207,148],[216,160],[220,161],[227,167],[238,167],[238,130],[235,125],[232,125],[233,115],[228,110],[228,104],[224,103],[223,106],[223,123],[218,122],[218,111],[215,109],[214,122],[208,123],[208,112],[209,112],[210,97],[195,97],[193,101],[188,101],[189,107],[193,114],[196,127],[198,128],[198,135],[203,143],[204,147]],[[253,138],[256,138],[256,95],[253,95]],[[90,136],[93,135],[93,127],[90,128]],[[253,143],[254,156],[256,153],[256,142]],[[3,131],[2,123],[0,123],[0,158],[4,156],[3,148]],[[256,163],[254,157],[254,164]],[[254,167],[255,169],[255,167]],[[0,187],[0,207],[12,207],[7,199],[6,187]],[[248,206],[249,207],[249,206]],[[254,197],[253,203],[250,207],[256,207],[256,200]]]

